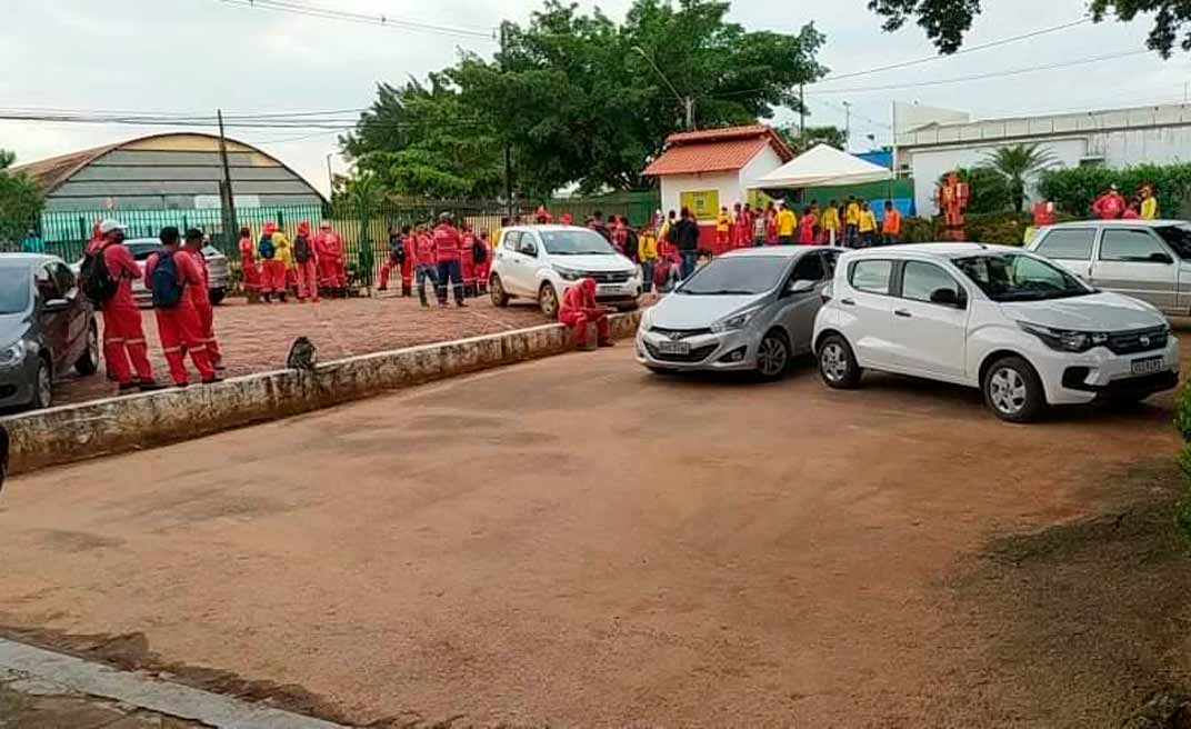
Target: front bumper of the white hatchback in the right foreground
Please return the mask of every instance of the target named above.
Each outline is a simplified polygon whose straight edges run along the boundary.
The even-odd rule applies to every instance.
[[[1155,360],[1154,372],[1134,374],[1137,360]],[[1036,357],[1052,405],[1079,405],[1114,397],[1145,397],[1179,384],[1179,342],[1170,337],[1166,347],[1131,355],[1117,355],[1099,347],[1081,355],[1049,353]]]

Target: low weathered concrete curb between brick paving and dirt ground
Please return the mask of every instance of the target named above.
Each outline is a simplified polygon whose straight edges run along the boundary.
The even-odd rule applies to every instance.
[[[640,312],[611,317],[615,338],[631,337]],[[547,324],[280,369],[218,385],[107,398],[0,419],[10,473],[211,435],[382,394],[387,391],[568,351],[565,329]]]

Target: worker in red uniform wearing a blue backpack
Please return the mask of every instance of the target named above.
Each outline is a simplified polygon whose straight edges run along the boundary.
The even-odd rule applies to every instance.
[[[200,239],[201,235],[199,233]],[[157,336],[166,353],[166,362],[169,363],[169,375],[177,387],[189,385],[183,360],[185,348],[202,382],[218,382],[207,345],[202,341],[199,313],[194,309],[194,291],[202,288],[202,272],[194,257],[179,250],[176,228],[162,229],[161,244],[161,253],[152,254],[145,262],[145,286],[152,292]]]

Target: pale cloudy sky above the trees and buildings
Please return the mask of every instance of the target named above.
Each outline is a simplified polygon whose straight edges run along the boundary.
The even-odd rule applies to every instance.
[[[337,10],[385,13],[428,24],[485,30],[525,21],[531,0],[303,0]],[[630,0],[580,0],[622,17]],[[225,0],[4,0],[0,108],[154,113],[275,113],[357,110],[378,81],[450,64],[460,46],[491,54],[481,37],[341,23],[251,8]],[[967,46],[1079,19],[1085,0],[986,0]],[[827,35],[821,60],[833,74],[930,56],[916,26],[887,35],[867,0],[736,0],[734,19],[752,30],[796,31],[813,20]],[[807,87],[809,124],[844,124],[852,106],[853,149],[891,138],[896,101],[971,111],[978,118],[1035,112],[1181,102],[1191,56],[1154,54],[1023,75],[937,83],[1037,66],[1066,64],[1143,49],[1149,18],[1124,25],[1085,24],[1029,40],[978,50],[908,69],[863,74]],[[922,85],[888,88],[902,85]],[[884,87],[884,88],[883,88]],[[0,120],[0,148],[18,162],[160,132],[161,127]],[[281,157],[320,189],[335,132],[232,129],[230,135]],[[343,162],[332,157],[336,172]]]

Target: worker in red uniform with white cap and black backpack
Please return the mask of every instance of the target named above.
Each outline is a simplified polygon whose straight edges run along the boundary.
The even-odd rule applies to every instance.
[[[120,392],[151,392],[161,390],[161,385],[152,376],[141,310],[132,298],[132,281],[141,278],[141,268],[124,244],[124,225],[116,220],[104,220],[93,231],[99,239],[92,245],[91,255],[104,257],[107,275],[116,282],[114,293],[96,301],[104,314],[104,359]],[[86,285],[83,291],[87,291]]]

